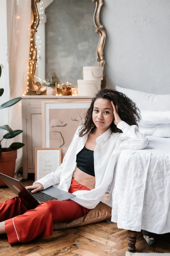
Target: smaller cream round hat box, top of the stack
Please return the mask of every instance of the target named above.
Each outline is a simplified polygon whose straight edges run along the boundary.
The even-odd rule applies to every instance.
[[[83,67],[84,80],[103,80],[103,67],[91,66]]]

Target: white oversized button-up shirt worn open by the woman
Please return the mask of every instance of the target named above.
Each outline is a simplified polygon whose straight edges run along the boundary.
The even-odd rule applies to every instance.
[[[78,127],[61,165],[55,172],[35,181],[33,185],[39,182],[44,186],[44,189],[54,185],[54,187],[68,192],[77,164],[76,156],[84,147],[91,131],[83,137],[79,137],[78,130],[81,127]],[[109,184],[113,181],[114,168],[120,152],[123,149],[144,149],[149,144],[147,137],[139,132],[136,125],[130,126],[126,122],[120,121],[117,128],[121,129],[122,133],[112,132],[111,128],[108,128],[96,138],[97,145],[94,149],[95,188],[90,191],[75,191],[73,195],[76,195],[76,197],[71,198],[71,200],[88,209],[96,207],[105,195]],[[112,207],[111,194],[110,191],[106,204]]]

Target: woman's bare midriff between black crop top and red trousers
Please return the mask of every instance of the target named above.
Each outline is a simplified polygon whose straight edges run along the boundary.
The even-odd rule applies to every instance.
[[[83,171],[81,171],[77,165],[73,172],[73,179],[75,179],[81,185],[89,188],[90,190],[95,188],[96,179],[94,176],[89,175]]]

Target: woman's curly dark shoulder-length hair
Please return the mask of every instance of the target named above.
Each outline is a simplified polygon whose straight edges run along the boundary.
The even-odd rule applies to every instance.
[[[113,104],[118,105],[118,114],[122,121],[125,121],[128,125],[136,125],[138,127],[137,121],[141,120],[140,110],[137,108],[135,102],[126,96],[126,94],[120,93],[113,89],[102,89],[95,97],[92,98],[90,108],[88,109],[85,117],[81,131],[79,131],[79,137],[83,137],[90,129],[96,127],[92,120],[93,106],[96,99],[108,99],[113,101]],[[138,113],[139,112],[139,113]],[[117,126],[112,121],[111,130],[115,133],[122,133],[122,130],[117,128]]]

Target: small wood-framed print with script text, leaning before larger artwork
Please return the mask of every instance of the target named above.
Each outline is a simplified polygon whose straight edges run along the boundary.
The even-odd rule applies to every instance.
[[[54,172],[61,164],[61,148],[35,148],[35,180]]]

